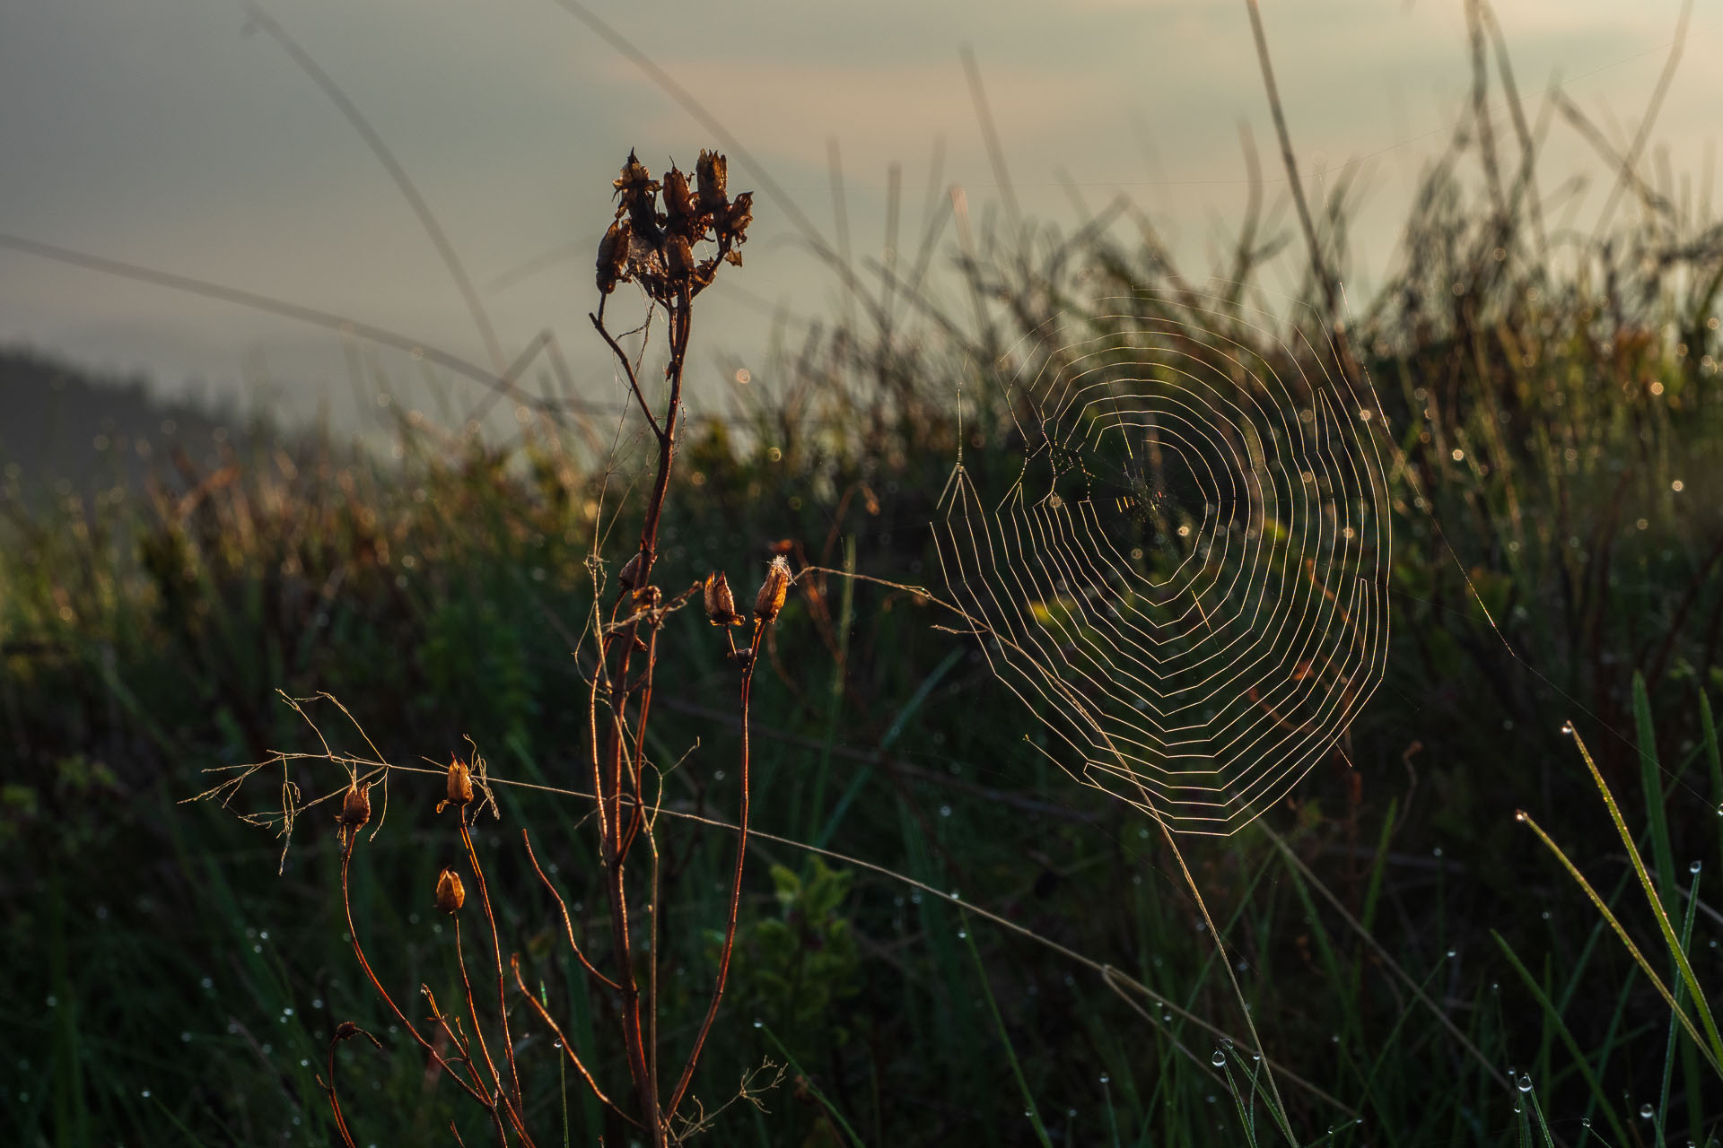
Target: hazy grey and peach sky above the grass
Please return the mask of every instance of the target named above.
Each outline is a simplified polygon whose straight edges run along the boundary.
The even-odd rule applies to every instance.
[[[608,181],[631,145],[656,170],[672,155],[691,165],[712,133],[555,0],[296,0],[267,10],[410,172],[505,351],[550,327],[582,386],[608,394],[584,318]],[[694,93],[832,239],[836,141],[858,262],[884,246],[894,162],[903,250],[922,234],[927,205],[949,210],[949,184],[965,188],[977,217],[999,200],[963,45],[1027,217],[1070,229],[1079,208],[1067,179],[1091,210],[1125,193],[1201,277],[1244,213],[1241,122],[1254,133],[1268,196],[1284,193],[1242,0],[594,0],[593,10]],[[1527,115],[1559,74],[1625,146],[1680,5],[1497,0],[1496,10]],[[1392,256],[1418,172],[1465,115],[1461,2],[1263,0],[1263,19],[1313,189],[1340,164],[1365,165],[1353,287],[1368,289]],[[246,24],[231,0],[0,7],[0,232],[338,312],[489,361],[400,191],[329,98]],[[1695,200],[1723,124],[1718,59],[1723,0],[1697,0],[1654,136]],[[1492,107],[1511,141],[1499,88]],[[936,141],[944,160],[930,186]],[[1590,227],[1608,172],[1558,115],[1540,164],[1546,194],[1580,170],[1594,176],[1589,198],[1558,215],[1571,207]],[[758,182],[732,153],[732,191]],[[762,196],[756,219],[746,267],[720,277],[736,289],[715,287],[696,324],[701,403],[734,398],[724,391],[737,386],[734,365],[758,370],[775,306],[798,317],[841,306],[836,279],[784,212]],[[951,227],[944,243],[955,243]],[[202,380],[205,392],[288,415],[326,399],[346,422],[364,401],[336,334],[9,250],[0,343],[143,370],[165,392]],[[405,358],[383,361],[408,370]],[[274,389],[260,394],[264,375]],[[477,392],[451,386],[451,398]]]

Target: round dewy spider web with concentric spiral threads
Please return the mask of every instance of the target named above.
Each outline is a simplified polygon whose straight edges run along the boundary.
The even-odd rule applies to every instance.
[[[1242,828],[1382,680],[1375,392],[1266,317],[1153,294],[1049,320],[999,384],[1022,468],[960,460],[934,523],[953,604],[1079,780]]]

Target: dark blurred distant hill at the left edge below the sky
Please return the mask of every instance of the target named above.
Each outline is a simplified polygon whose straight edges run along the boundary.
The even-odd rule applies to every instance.
[[[26,487],[136,485],[179,446],[200,466],[258,427],[236,415],[150,394],[26,348],[0,348],[0,472]],[[17,466],[17,470],[12,470]]]

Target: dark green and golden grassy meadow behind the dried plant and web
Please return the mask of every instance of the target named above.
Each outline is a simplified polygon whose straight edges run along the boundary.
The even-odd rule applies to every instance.
[[[793,596],[756,682],[763,835],[696,1091],[715,1108],[768,1059],[791,1076],[725,1110],[706,1143],[1720,1134],[1704,1002],[1723,962],[1689,873],[1723,864],[1707,697],[1723,687],[1718,232],[1652,212],[1613,248],[1547,255],[1523,205],[1497,227],[1454,164],[1430,176],[1401,277],[1351,324],[1399,449],[1387,682],[1349,761],[1234,838],[1180,842],[1239,991],[1153,824],[1039,752],[1056,750],[1036,716],[968,639],[934,628],[949,618],[825,577]],[[1340,250],[1344,215],[1327,219]],[[818,566],[930,583],[960,387],[967,465],[1020,465],[1005,413],[975,398],[989,392],[975,363],[1051,308],[1134,282],[1158,284],[1146,306],[1197,320],[1153,239],[1110,234],[984,236],[973,301],[906,315],[899,298],[893,324],[781,351],[748,425],[691,427],[663,583],[724,568],[741,596],[779,539]],[[451,1119],[481,1143],[455,1089],[426,1089],[353,964],[331,807],[303,811],[277,876],[281,842],[234,814],[279,800],[279,771],[229,809],[177,802],[219,780],[205,769],[315,747],[277,688],[339,697],[401,766],[472,735],[498,780],[581,788],[569,651],[591,601],[593,511],[643,465],[610,465],[586,430],[484,444],[403,418],[400,463],[283,439],[231,477],[164,473],[160,497],[43,501],[10,480],[0,1124],[17,1143],[331,1143],[317,1077],[341,1019],[388,1046],[339,1050],[360,1143],[450,1143]],[[687,613],[665,635],[686,652],[660,670],[651,752],[693,749],[667,776],[672,814],[734,804],[731,675],[712,639]],[[1559,733],[1570,719],[1585,757]],[[310,766],[295,780],[303,800],[338,787]],[[429,983],[448,1002],[458,979],[431,909],[457,849],[431,814],[441,781],[403,773],[391,790],[353,866],[355,919],[398,1000]],[[515,836],[532,830],[601,938],[586,807],[543,788],[498,797],[477,847],[505,954],[622,1089],[610,1005],[555,955],[555,909]],[[853,880],[808,909],[794,890],[832,886],[796,842],[874,867],[827,859]],[[732,838],[679,821],[665,845],[674,1050],[705,1003]],[[853,959],[830,959],[837,936]],[[603,1114],[522,1031],[539,1127],[562,1129],[567,1103],[570,1143],[596,1143]]]

